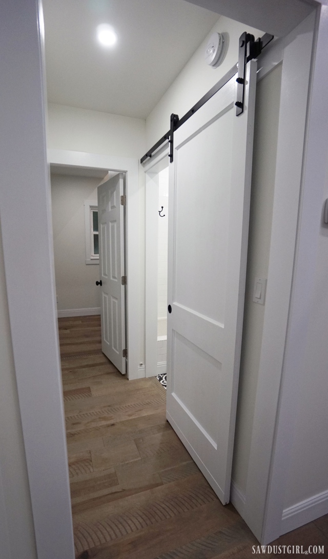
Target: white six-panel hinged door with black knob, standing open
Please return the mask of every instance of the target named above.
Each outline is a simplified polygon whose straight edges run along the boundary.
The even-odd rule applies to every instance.
[[[125,374],[125,285],[123,174],[98,186],[101,345],[103,353]]]

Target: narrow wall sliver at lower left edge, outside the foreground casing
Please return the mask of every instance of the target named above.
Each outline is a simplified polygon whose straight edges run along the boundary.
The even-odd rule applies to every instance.
[[[3,494],[4,508],[2,511],[0,503],[1,546],[5,541],[3,538],[6,528],[8,533],[8,550],[2,547],[1,553],[6,559],[36,559],[30,488],[12,354],[1,229],[0,347],[0,492]]]

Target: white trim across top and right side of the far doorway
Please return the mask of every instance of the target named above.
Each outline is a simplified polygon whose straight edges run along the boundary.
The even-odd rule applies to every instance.
[[[47,159],[58,165],[126,173],[127,377],[139,378],[139,162],[129,157],[61,149],[48,149]]]

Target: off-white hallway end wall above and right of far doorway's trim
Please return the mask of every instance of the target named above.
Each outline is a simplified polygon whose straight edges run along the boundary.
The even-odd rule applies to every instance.
[[[145,121],[64,105],[48,106],[47,148],[139,159]],[[145,362],[145,173],[139,172],[139,362]]]

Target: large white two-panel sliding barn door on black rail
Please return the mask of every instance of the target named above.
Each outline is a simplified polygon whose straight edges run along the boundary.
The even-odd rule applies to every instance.
[[[167,418],[230,499],[248,247],[256,62],[174,133],[169,168]],[[170,312],[170,310],[172,310]]]

